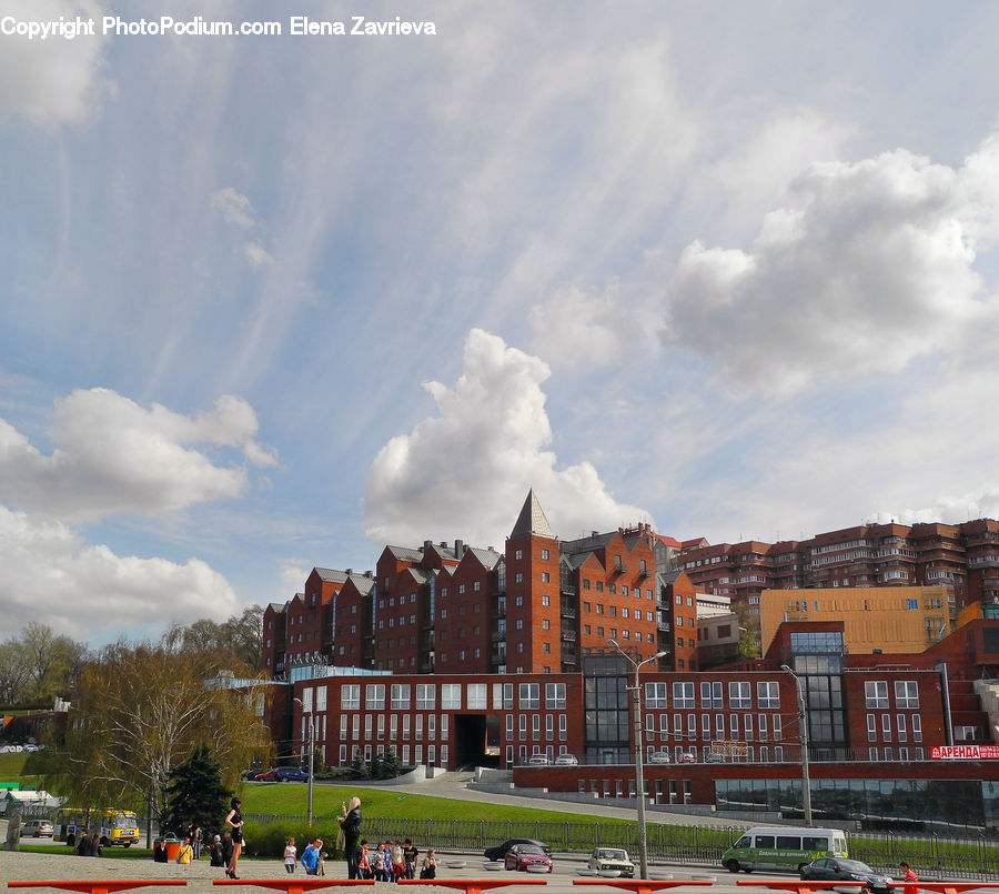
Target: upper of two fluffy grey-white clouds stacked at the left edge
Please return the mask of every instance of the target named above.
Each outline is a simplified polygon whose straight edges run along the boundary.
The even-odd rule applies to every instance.
[[[273,465],[273,452],[253,440],[256,431],[253,409],[232,395],[191,418],[161,404],[145,410],[107,389],[74,391],[57,402],[51,455],[0,420],[0,500],[81,521],[235,498],[245,470],[216,465],[190,445],[242,449],[248,461]]]

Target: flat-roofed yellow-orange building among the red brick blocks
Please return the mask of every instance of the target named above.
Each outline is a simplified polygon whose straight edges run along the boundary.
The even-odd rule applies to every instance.
[[[759,595],[763,654],[784,621],[842,621],[855,654],[922,652],[951,631],[942,586],[837,586],[764,590]]]

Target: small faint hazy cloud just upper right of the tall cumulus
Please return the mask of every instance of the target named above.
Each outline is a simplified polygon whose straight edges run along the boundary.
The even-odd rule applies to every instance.
[[[553,365],[573,370],[617,365],[629,353],[654,346],[642,317],[615,285],[603,293],[569,285],[535,304],[527,320],[534,350]]]

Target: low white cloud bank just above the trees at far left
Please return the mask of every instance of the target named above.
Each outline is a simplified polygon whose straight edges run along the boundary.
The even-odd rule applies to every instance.
[[[0,629],[43,620],[92,641],[122,626],[152,635],[173,622],[239,612],[228,581],[199,559],[117,555],[62,523],[0,506]]]

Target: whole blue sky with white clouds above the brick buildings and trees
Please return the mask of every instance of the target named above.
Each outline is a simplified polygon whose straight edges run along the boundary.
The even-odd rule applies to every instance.
[[[0,642],[502,550],[531,488],[564,539],[999,516],[997,33],[0,0]]]

